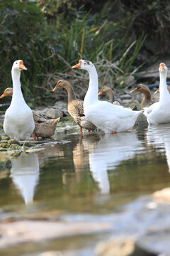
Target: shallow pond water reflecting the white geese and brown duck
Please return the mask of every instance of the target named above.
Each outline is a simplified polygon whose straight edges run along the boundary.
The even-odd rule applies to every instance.
[[[78,129],[59,129],[41,147],[11,157],[11,166],[1,169],[1,220],[97,223],[101,232],[7,246],[1,255],[40,255],[45,250],[94,255],[96,244],[113,233],[113,228],[102,229],[102,223],[114,223],[114,235],[125,233],[142,206],[140,198],[170,184],[170,124],[113,135],[85,133],[84,139]]]

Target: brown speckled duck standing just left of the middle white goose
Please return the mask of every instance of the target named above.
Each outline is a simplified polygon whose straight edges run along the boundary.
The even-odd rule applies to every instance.
[[[59,88],[64,88],[65,90],[67,90],[68,112],[74,118],[74,121],[79,125],[81,137],[83,137],[83,128],[87,129],[88,133],[91,130],[96,129],[96,126],[85,117],[84,102],[82,100],[77,99],[74,89],[70,82],[67,80],[59,80],[57,81],[57,84],[55,85],[55,88],[52,91],[55,92],[55,90],[58,90]]]

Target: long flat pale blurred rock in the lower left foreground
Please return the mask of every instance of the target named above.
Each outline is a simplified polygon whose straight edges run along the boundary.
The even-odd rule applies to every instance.
[[[47,220],[16,220],[0,222],[0,248],[21,242],[42,242],[45,239],[64,238],[111,229],[110,223],[64,222]]]

